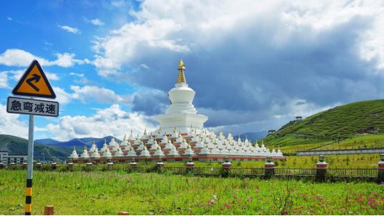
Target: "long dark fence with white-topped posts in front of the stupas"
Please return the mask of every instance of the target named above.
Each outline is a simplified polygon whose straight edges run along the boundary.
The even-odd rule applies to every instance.
[[[107,163],[102,161],[96,163],[95,161],[88,163],[73,163],[69,160],[63,166],[58,166],[56,163],[50,165],[42,165],[41,163],[35,164],[35,170],[40,171],[58,171],[58,172],[93,172],[93,171],[112,171],[119,170],[126,173],[139,172],[157,172],[163,174],[179,174],[189,176],[216,176],[216,177],[241,177],[241,178],[307,178],[314,181],[348,181],[348,180],[364,180],[376,181],[377,183],[384,183],[384,154],[381,154],[381,161],[378,162],[378,168],[345,168],[345,169],[330,169],[328,164],[324,161],[324,156],[319,156],[319,162],[316,163],[313,169],[303,168],[277,168],[272,158],[267,158],[264,167],[251,167],[251,168],[236,168],[232,167],[230,158],[225,157],[222,167],[195,167],[193,158],[184,167],[166,167],[163,160],[159,159],[154,167],[140,166],[147,161],[132,160],[131,163],[113,163],[108,160]],[[3,165],[0,164],[0,169],[26,169],[26,163],[23,165]]]

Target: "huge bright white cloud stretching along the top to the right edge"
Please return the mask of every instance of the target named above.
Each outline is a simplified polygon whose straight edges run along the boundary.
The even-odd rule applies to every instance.
[[[112,2],[121,3],[124,1]],[[383,12],[382,1],[221,1],[218,4],[148,0],[141,3],[141,10],[130,12],[136,22],[111,31],[108,37],[95,43],[95,50],[102,54],[96,56],[94,63],[99,75],[109,76],[117,74],[123,65],[134,67],[136,60],[156,49],[179,53],[200,50],[199,47],[209,49],[221,43],[226,35],[237,34],[255,22],[275,23],[269,37],[271,44],[280,46],[289,43],[297,33],[306,35],[305,40],[317,40],[315,36],[319,33],[365,17],[372,20],[372,25],[358,33],[360,57],[374,59],[378,68],[384,68]]]

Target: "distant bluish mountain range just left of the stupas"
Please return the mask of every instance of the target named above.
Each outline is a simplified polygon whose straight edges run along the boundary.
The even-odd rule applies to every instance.
[[[95,140],[95,144],[98,148],[102,148],[104,144],[104,140],[106,140],[106,143],[111,142],[112,136],[106,136],[105,138],[74,138],[72,140],[68,141],[58,141],[54,139],[42,139],[42,140],[35,140],[35,142],[42,143],[51,147],[77,147],[77,149],[82,149],[84,146],[90,147],[93,144],[93,140]],[[121,142],[121,140],[118,140],[115,138],[117,142]]]

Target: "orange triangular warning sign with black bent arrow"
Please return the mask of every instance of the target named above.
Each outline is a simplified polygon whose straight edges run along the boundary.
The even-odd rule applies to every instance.
[[[56,98],[56,94],[37,60],[33,60],[28,69],[26,69],[22,78],[20,78],[15,88],[13,88],[12,94],[51,99]]]

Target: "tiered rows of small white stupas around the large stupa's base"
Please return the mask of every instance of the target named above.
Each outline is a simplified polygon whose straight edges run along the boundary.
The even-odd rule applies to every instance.
[[[97,149],[94,143],[89,151],[85,147],[83,153],[78,155],[76,149],[72,152],[72,160],[131,160],[136,158],[157,160],[183,160],[189,157],[195,160],[223,159],[230,157],[239,160],[265,160],[271,156],[275,160],[282,160],[284,156],[280,149],[270,151],[264,144],[253,144],[247,138],[235,140],[231,133],[225,137],[223,133],[216,135],[214,131],[205,129],[191,129],[189,133],[177,133],[175,130],[171,134],[161,133],[161,129],[156,131],[156,135],[148,135],[144,131],[141,138],[135,137],[133,133],[127,138],[123,138],[118,143],[115,138],[107,144],[104,142],[102,149]]]

